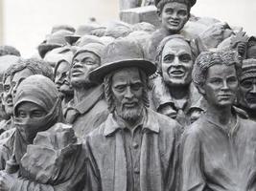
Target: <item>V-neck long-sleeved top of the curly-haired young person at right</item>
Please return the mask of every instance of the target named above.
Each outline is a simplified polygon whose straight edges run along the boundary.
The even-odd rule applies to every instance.
[[[256,190],[255,148],[254,121],[225,130],[201,116],[182,138],[181,191]]]

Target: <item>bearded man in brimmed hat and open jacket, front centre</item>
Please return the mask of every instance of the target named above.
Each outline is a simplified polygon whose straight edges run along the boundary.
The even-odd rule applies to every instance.
[[[104,81],[110,114],[85,138],[85,190],[175,190],[180,127],[148,108],[154,65],[130,39],[109,44],[104,55],[90,78]]]

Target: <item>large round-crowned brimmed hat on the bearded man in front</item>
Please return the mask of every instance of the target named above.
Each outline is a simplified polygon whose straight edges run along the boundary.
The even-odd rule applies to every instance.
[[[89,77],[92,81],[101,83],[106,74],[130,67],[137,67],[148,76],[156,71],[154,64],[144,58],[143,50],[136,41],[119,38],[105,48],[102,66],[92,71]]]

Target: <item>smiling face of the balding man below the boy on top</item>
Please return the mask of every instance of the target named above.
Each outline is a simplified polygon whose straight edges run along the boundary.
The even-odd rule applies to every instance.
[[[192,81],[193,59],[189,44],[182,39],[166,43],[161,60],[162,74],[169,86],[184,86]]]

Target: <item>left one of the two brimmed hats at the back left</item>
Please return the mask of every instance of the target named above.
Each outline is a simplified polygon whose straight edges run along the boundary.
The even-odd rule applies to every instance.
[[[48,35],[45,43],[42,43],[38,46],[38,53],[42,58],[44,58],[45,54],[49,51],[52,51],[58,47],[62,47],[66,45],[65,36],[70,35],[73,32],[69,32],[66,30],[60,30],[58,32],[54,32]]]

